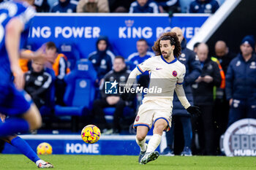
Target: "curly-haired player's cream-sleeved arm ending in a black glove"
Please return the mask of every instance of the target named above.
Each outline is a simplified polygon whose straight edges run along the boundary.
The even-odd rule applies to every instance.
[[[189,104],[189,101],[187,100],[186,94],[184,92],[184,88],[183,88],[183,82],[184,82],[184,76],[186,74],[186,68],[184,66],[183,68],[183,73],[181,73],[181,75],[178,76],[178,81],[176,84],[176,94],[178,96],[178,100],[181,101],[182,106],[187,109],[187,112],[189,112],[191,115],[200,115],[200,110],[198,107],[192,107]]]

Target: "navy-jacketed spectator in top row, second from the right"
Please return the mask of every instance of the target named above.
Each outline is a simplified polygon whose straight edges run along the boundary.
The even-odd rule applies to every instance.
[[[155,0],[159,6],[159,12],[167,12],[170,16],[173,13],[181,12],[179,0]]]

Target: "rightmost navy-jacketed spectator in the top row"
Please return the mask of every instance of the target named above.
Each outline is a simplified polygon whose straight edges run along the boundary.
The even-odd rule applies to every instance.
[[[216,0],[195,0],[189,5],[189,13],[210,13],[214,14],[219,8]]]

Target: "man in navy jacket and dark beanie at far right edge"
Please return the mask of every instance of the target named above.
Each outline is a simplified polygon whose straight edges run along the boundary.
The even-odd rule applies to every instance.
[[[226,95],[230,102],[228,126],[242,118],[256,118],[255,39],[245,36],[240,50],[227,68]]]

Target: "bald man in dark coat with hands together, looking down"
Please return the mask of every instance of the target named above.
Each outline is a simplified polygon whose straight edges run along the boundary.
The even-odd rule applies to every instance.
[[[200,149],[203,155],[216,155],[214,149],[214,86],[219,87],[222,78],[217,62],[208,57],[208,46],[198,45],[197,56],[201,63],[202,73],[192,85],[194,104],[200,107],[201,115],[192,117],[193,136],[199,136]]]

